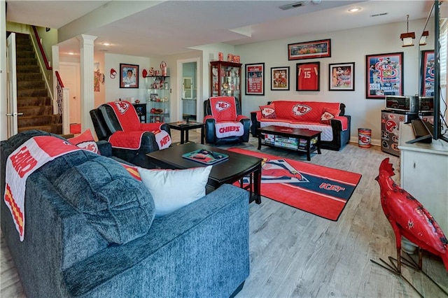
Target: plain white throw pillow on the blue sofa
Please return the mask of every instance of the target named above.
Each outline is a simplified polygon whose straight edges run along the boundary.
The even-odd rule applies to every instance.
[[[204,197],[211,167],[184,170],[139,167],[141,180],[154,199],[155,216],[167,215]]]

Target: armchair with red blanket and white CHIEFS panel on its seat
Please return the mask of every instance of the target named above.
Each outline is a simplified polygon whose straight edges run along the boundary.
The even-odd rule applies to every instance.
[[[241,115],[235,97],[210,97],[204,101],[205,141],[213,144],[249,141],[251,120]]]

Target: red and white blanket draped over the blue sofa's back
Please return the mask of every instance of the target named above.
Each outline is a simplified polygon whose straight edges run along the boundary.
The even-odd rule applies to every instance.
[[[4,200],[13,215],[20,241],[25,237],[25,186],[28,176],[52,159],[76,150],[81,148],[54,136],[34,136],[9,155]]]

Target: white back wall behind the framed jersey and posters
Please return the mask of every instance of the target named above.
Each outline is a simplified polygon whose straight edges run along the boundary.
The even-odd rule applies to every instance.
[[[409,31],[415,31],[420,36],[425,20],[409,22]],[[419,49],[419,38],[414,40],[416,46],[402,48],[400,34],[406,29],[406,23],[385,24],[381,26],[365,27],[343,31],[328,32],[326,34],[300,36],[264,43],[236,45],[235,54],[241,56],[241,62],[265,63],[265,95],[247,96],[244,94],[244,70],[242,76],[242,111],[250,115],[258,110],[258,106],[267,101],[309,100],[309,101],[339,101],[346,105],[346,114],[351,115],[352,141],[358,139],[358,128],[372,129],[372,143],[380,143],[381,109],[384,100],[365,98],[365,55],[384,54],[389,52],[404,52],[404,85],[405,94],[419,93],[419,50],[433,50],[433,22],[428,22],[430,36],[427,45]],[[288,61],[288,43],[315,41],[331,38],[331,57],[322,59],[302,59]],[[321,77],[319,92],[297,92],[295,67],[296,63],[321,62]],[[355,62],[355,91],[328,91],[328,64]],[[290,90],[270,90],[271,67],[290,66]],[[243,66],[244,67],[244,66]]]

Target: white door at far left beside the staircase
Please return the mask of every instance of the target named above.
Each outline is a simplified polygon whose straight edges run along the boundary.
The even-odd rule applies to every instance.
[[[8,138],[18,133],[17,118],[17,73],[15,72],[15,33],[6,40],[6,117],[8,118]],[[22,113],[20,113],[22,115]]]

